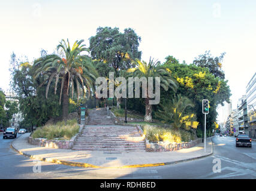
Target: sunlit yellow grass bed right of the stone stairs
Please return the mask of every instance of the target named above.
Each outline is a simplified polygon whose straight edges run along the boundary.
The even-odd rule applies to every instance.
[[[169,141],[170,143],[181,143],[194,140],[194,136],[186,130],[173,130],[172,128],[157,127],[153,125],[142,125],[143,133],[151,143],[158,141]]]

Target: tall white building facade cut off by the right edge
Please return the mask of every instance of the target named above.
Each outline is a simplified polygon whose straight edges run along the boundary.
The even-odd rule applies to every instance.
[[[249,135],[252,138],[256,138],[256,72],[246,86],[246,101]]]

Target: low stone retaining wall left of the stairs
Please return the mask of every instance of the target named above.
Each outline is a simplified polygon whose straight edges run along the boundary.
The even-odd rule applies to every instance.
[[[77,136],[81,133],[83,125],[80,125],[79,133],[74,135],[70,140],[47,140],[47,138],[32,138],[28,137],[28,143],[38,145],[41,147],[53,148],[53,149],[72,149]]]

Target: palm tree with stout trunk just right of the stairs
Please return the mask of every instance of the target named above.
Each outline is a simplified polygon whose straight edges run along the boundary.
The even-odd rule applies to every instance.
[[[135,66],[134,68],[128,69],[128,72],[134,72],[133,76],[134,77],[146,77],[147,79],[149,77],[159,77],[161,82],[160,85],[161,87],[167,91],[168,88],[171,88],[174,92],[177,91],[177,83],[176,81],[171,78],[170,71],[168,72],[168,69],[165,69],[164,67],[159,65],[159,61],[154,61],[153,59],[151,60],[151,57],[149,59],[149,63],[146,63],[145,61],[140,61],[136,59],[134,61]],[[145,122],[152,122],[152,105],[149,104],[149,93],[147,91],[147,97],[145,98],[145,116],[144,116],[144,121]]]

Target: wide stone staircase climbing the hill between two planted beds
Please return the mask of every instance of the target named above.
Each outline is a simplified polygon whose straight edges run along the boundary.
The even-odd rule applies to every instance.
[[[113,125],[112,119],[107,118],[106,109],[95,109],[89,112],[89,125],[83,128],[72,149],[106,152],[145,151],[145,142],[136,127]]]

